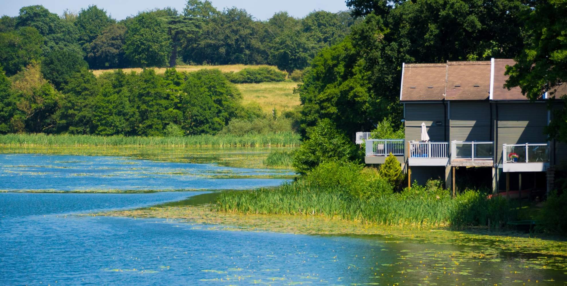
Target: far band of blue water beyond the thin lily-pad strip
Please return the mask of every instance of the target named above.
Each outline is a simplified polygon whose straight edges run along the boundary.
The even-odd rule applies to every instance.
[[[0,190],[194,190],[277,186],[289,170],[172,163],[130,157],[0,154]]]

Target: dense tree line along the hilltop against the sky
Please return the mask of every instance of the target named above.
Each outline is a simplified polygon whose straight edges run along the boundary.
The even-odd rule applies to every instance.
[[[236,7],[218,11],[208,0],[189,0],[184,11],[166,7],[120,21],[96,5],[62,16],[27,6],[0,19],[0,62],[9,76],[61,51],[81,57],[90,69],[181,62],[269,64],[292,72],[340,42],[354,22],[347,11],[314,11],[303,19],[278,12],[259,21]]]

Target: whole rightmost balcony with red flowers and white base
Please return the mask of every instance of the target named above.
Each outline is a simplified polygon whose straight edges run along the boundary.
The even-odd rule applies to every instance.
[[[543,172],[548,167],[547,143],[502,145],[502,172]]]

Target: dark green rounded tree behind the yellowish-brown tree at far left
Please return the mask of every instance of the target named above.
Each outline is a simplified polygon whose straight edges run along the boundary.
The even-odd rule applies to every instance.
[[[75,72],[86,68],[88,64],[83,57],[71,50],[54,50],[41,62],[41,74],[57,88],[67,83]]]

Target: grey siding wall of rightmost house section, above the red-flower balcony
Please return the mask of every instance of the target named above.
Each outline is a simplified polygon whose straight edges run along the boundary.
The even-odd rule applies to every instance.
[[[545,143],[547,105],[544,103],[497,103],[497,163],[502,163],[502,144]]]

